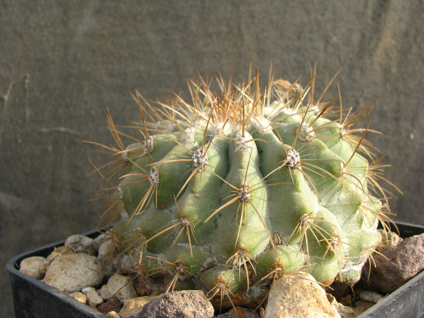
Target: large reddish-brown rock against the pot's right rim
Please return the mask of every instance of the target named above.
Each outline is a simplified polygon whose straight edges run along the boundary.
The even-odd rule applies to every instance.
[[[382,253],[373,254],[376,268],[369,262],[362,269],[361,283],[367,288],[391,293],[424,269],[424,233],[404,239],[394,247],[385,248]]]

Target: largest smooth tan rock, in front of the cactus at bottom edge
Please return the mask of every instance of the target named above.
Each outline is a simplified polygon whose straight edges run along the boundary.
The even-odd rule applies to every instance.
[[[314,300],[314,301],[311,301]],[[324,289],[307,273],[283,275],[268,296],[265,318],[340,318],[331,306]]]

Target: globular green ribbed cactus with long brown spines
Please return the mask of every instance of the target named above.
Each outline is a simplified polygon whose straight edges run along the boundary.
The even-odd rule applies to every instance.
[[[120,218],[112,247],[141,284],[168,277],[168,290],[222,299],[300,270],[323,284],[358,281],[378,223],[390,221],[385,166],[369,127],[358,128],[372,103],[354,113],[323,101],[328,86],[315,98],[312,73],[306,87],[272,72],[264,86],[257,71],[241,85],[218,78],[217,92],[199,77],[190,102],[137,93],[131,136],[108,115],[116,144],[103,146],[111,169],[96,168],[112,192],[102,220]]]

